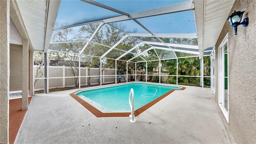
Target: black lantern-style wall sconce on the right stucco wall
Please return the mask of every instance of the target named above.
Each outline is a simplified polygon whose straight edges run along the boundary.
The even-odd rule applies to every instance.
[[[228,16],[228,22],[229,22],[230,26],[234,27],[235,35],[237,35],[237,26],[239,26],[240,24],[242,24],[243,26],[248,26],[248,23],[249,23],[249,18],[248,17],[244,18],[243,22],[241,22],[244,12],[245,11],[236,12],[234,10],[234,12],[230,16]]]

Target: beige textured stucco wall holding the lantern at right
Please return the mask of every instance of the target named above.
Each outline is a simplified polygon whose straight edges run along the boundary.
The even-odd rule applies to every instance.
[[[228,33],[229,40],[229,128],[236,143],[256,143],[256,0],[236,0],[230,14],[244,11],[248,27],[238,26],[238,34],[226,22],[216,43],[216,84],[218,46]],[[216,86],[216,100],[218,88]],[[218,102],[218,101],[217,101]]]

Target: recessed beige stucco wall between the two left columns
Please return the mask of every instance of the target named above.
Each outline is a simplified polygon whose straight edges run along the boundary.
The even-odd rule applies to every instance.
[[[22,46],[10,44],[10,91],[21,90]]]

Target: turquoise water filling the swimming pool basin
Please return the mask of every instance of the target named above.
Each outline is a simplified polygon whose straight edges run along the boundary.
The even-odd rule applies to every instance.
[[[166,86],[159,84],[123,84],[84,90],[76,95],[101,112],[130,112],[129,92],[134,89],[134,110],[148,104],[170,90],[178,90],[178,86]]]

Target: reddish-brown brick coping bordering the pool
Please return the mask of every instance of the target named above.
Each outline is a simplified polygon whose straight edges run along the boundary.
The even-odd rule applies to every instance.
[[[107,87],[107,86],[103,86],[103,87]],[[103,88],[103,87],[101,87],[101,88]],[[179,90],[186,89],[183,86],[178,86],[178,87],[181,87],[181,89],[179,89]],[[94,89],[94,88],[92,88],[92,89]],[[88,89],[83,89],[83,90],[88,90]],[[92,114],[94,114],[94,116],[96,116],[97,118],[100,118],[100,117],[128,117],[131,114],[130,112],[111,112],[111,113],[110,112],[108,112],[108,113],[101,112],[94,106],[90,105],[88,102],[84,101],[82,98],[76,96],[77,92],[80,92],[83,90],[77,90],[76,92],[72,92],[69,95],[72,98],[74,98],[77,102],[79,102],[82,106],[84,106],[84,108],[86,108]],[[153,106],[154,104],[156,104],[157,102],[159,102],[160,100],[162,100],[163,98],[165,98],[166,96],[168,96],[169,94],[171,94],[174,91],[175,90],[170,90],[170,91],[166,92],[165,94],[163,94],[162,96],[160,96],[160,97],[156,98],[155,100],[149,102],[148,104],[142,106],[141,108],[138,108],[137,110],[134,111],[134,116],[138,116],[139,114],[141,114],[142,112],[144,112],[145,110],[147,110],[148,108],[150,108],[151,106]]]

